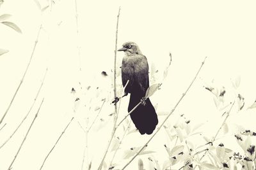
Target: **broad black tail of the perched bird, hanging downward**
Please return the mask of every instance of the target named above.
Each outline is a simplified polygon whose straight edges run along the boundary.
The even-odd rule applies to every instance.
[[[128,111],[131,111],[138,103],[140,103],[143,96],[138,94],[131,94]],[[146,100],[146,105],[140,104],[136,110],[132,111],[131,119],[136,128],[141,134],[152,134],[156,125],[158,124],[157,114],[154,106],[149,98]]]

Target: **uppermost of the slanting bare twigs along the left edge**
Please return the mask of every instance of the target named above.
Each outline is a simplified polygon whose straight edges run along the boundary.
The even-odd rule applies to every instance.
[[[4,112],[3,117],[2,117],[1,120],[0,120],[0,124],[3,122],[4,117],[6,116],[6,114],[8,113],[8,111],[10,110],[10,107],[12,106],[12,103],[13,103],[13,101],[14,101],[16,95],[17,95],[17,92],[19,91],[20,86],[21,86],[22,82],[24,81],[24,78],[25,78],[26,73],[27,73],[27,71],[28,71],[28,67],[29,67],[29,65],[30,65],[30,63],[31,63],[31,60],[32,60],[32,58],[33,58],[33,55],[34,55],[34,52],[35,52],[35,49],[36,49],[36,45],[37,45],[37,43],[38,43],[38,37],[39,37],[39,35],[40,35],[41,29],[42,29],[42,25],[40,25],[40,28],[39,28],[39,30],[38,30],[38,33],[37,33],[37,36],[36,36],[35,45],[34,45],[34,47],[33,47],[33,50],[32,50],[32,53],[31,53],[31,57],[30,57],[30,59],[29,59],[28,65],[27,65],[27,67],[26,67],[26,70],[25,70],[25,72],[24,72],[24,74],[23,74],[23,76],[22,76],[22,79],[20,80],[19,86],[17,87],[17,89],[16,89],[16,91],[15,91],[13,97],[12,97],[12,100],[11,100],[11,102],[10,102],[8,108],[6,109],[6,111]]]

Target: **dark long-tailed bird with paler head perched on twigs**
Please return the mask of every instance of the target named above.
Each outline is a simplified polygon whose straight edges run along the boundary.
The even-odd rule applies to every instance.
[[[122,61],[122,83],[125,86],[127,80],[129,80],[124,90],[125,96],[128,93],[131,94],[128,106],[129,112],[145,97],[149,87],[148,62],[136,43],[124,43],[118,51],[125,52]],[[136,110],[132,111],[130,116],[141,134],[152,134],[158,124],[156,110],[149,99],[145,100],[145,104],[140,104]]]

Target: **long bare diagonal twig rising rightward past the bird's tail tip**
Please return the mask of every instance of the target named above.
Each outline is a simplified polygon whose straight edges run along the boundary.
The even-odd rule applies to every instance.
[[[207,57],[205,57],[206,59]],[[198,69],[196,75],[195,75],[195,78],[193,78],[193,80],[191,81],[188,89],[184,92],[184,94],[182,94],[182,96],[180,97],[179,101],[177,102],[177,104],[175,104],[174,108],[172,109],[172,111],[167,115],[167,117],[164,119],[163,123],[157,128],[156,132],[154,132],[154,134],[151,136],[150,139],[148,139],[147,143],[145,143],[144,146],[142,146],[140,148],[140,150],[132,157],[131,160],[129,160],[129,162],[127,162],[127,164],[125,164],[125,166],[122,168],[122,169],[125,169],[125,167],[127,167],[131,162],[132,160],[134,160],[139,154],[140,152],[148,145],[148,143],[154,138],[154,136],[156,136],[157,132],[159,132],[159,130],[161,129],[161,127],[163,127],[164,123],[166,122],[166,120],[168,120],[168,118],[170,117],[170,115],[172,115],[173,111],[177,108],[177,106],[179,105],[180,101],[183,99],[183,97],[187,94],[188,90],[190,89],[190,87],[193,85],[194,81],[196,80],[196,77],[198,75],[198,73],[200,72],[200,70],[202,69],[202,66],[204,66],[204,62],[205,62],[205,59],[204,61],[202,62],[200,68]]]

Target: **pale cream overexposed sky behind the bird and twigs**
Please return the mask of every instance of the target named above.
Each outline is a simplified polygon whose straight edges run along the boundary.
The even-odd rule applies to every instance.
[[[51,1],[39,2],[41,8],[51,4]],[[211,138],[220,127],[221,112],[216,110],[212,94],[204,90],[204,85],[211,84],[214,80],[213,86],[218,88],[225,86],[228,97],[226,103],[232,102],[238,93],[242,94],[245,98],[244,108],[248,108],[256,99],[255,5],[255,1],[77,0],[79,31],[77,37],[75,1],[55,1],[55,4],[43,13],[38,10],[33,0],[4,1],[0,7],[0,15],[11,14],[10,21],[19,25],[22,34],[0,24],[0,48],[10,51],[0,56],[0,115],[3,115],[19,85],[40,24],[43,29],[40,32],[28,74],[4,119],[7,125],[0,132],[0,143],[10,136],[26,115],[46,67],[49,70],[32,114],[10,142],[0,150],[0,169],[6,169],[9,166],[42,97],[45,97],[45,102],[40,115],[19,157],[13,164],[13,169],[38,169],[52,144],[74,115],[76,116],[74,122],[47,160],[45,169],[81,169],[84,134],[77,125],[77,120],[85,117],[84,114],[87,112],[83,110],[83,106],[91,98],[95,99],[92,107],[100,104],[93,92],[88,94],[84,94],[83,90],[80,92],[78,82],[81,81],[84,89],[89,85],[94,90],[96,87],[105,90],[111,88],[111,78],[104,79],[100,73],[106,71],[109,76],[112,76],[116,15],[119,6],[121,11],[118,47],[125,41],[136,42],[141,52],[147,56],[150,67],[154,65],[159,70],[156,74],[158,82],[163,78],[163,70],[170,59],[169,53],[172,53],[172,65],[168,76],[161,90],[151,98],[152,103],[158,104],[157,110],[172,109],[195,76],[204,57],[207,56],[195,84],[184,97],[177,111],[170,117],[170,124],[175,124],[176,118],[181,113],[195,124],[208,121],[202,130]],[[79,59],[77,46],[81,46],[81,59]],[[122,52],[117,54],[118,67],[123,55]],[[79,71],[79,60],[81,60],[82,71]],[[237,77],[241,78],[241,83],[240,87],[234,90],[231,80],[236,80]],[[119,82],[120,79],[118,76]],[[77,89],[77,96],[70,94],[72,87]],[[100,93],[99,96],[107,94],[107,92]],[[73,112],[74,97],[81,98],[77,113]],[[109,106],[111,99],[107,102],[106,110],[102,110],[103,118],[108,118],[110,114],[108,111],[112,107]],[[124,99],[120,117],[126,114],[127,104],[128,99]],[[236,110],[237,106],[228,119],[230,136],[236,131],[233,128],[234,124],[256,131],[253,125],[253,120],[256,118],[255,109],[239,113]],[[90,134],[92,169],[96,168],[95,164],[102,157],[102,150],[106,148],[105,143],[110,136],[109,129],[111,129],[111,122],[103,131]],[[128,149],[142,145],[147,138],[148,136],[139,134],[127,136],[124,141],[124,150],[125,147]],[[152,141],[152,145],[154,144],[155,150],[160,150],[159,155],[161,155],[163,140],[166,140],[164,132],[160,132],[156,138]],[[234,143],[232,139],[232,137],[227,138],[227,145]],[[238,148],[236,145],[230,147]],[[163,162],[159,155],[156,155],[156,159]],[[164,156],[166,159],[166,155]],[[124,162],[127,161],[124,160]],[[136,166],[136,161],[132,166]]]

